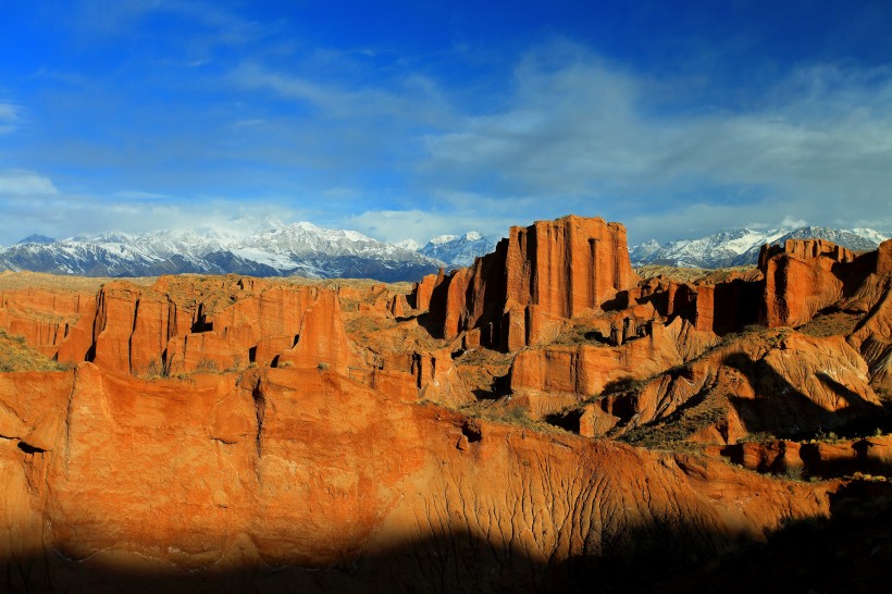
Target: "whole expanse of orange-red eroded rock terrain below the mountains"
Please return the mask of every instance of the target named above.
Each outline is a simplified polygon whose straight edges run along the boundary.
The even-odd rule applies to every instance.
[[[3,273],[58,370],[0,373],[0,590],[772,591],[734,560],[828,534],[792,586],[888,586],[891,288],[892,242],[683,282],[578,216],[412,287]]]

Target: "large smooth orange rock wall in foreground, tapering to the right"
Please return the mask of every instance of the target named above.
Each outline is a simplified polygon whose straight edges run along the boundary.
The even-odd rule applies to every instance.
[[[21,382],[42,396],[23,400]],[[0,375],[0,400],[18,428],[0,440],[14,590],[558,587],[552,564],[633,552],[630,530],[690,523],[687,546],[708,552],[825,515],[832,491],[470,422],[317,370],[145,382],[83,363]],[[358,569],[327,569],[344,564]]]

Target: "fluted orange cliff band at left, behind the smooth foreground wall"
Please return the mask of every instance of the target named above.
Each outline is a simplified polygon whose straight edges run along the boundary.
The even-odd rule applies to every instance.
[[[95,297],[8,290],[0,302],[0,327],[60,362],[91,360],[114,372],[222,371],[283,354],[289,364],[346,372],[354,357],[337,296],[311,286],[162,277],[151,287],[108,283]],[[384,312],[386,295],[381,304]]]

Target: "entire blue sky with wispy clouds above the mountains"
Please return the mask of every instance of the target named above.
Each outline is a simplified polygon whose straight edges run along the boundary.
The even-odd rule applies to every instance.
[[[0,245],[892,230],[892,2],[0,4]]]

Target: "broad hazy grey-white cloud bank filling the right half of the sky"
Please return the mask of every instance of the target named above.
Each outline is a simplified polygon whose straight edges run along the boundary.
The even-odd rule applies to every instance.
[[[658,238],[705,221],[715,230],[786,214],[843,226],[866,213],[892,218],[892,71],[803,69],[739,111],[661,102],[673,84],[574,46],[532,52],[505,109],[425,137],[421,172],[434,187],[501,197],[515,218],[572,210]],[[517,196],[538,203],[518,209]]]

